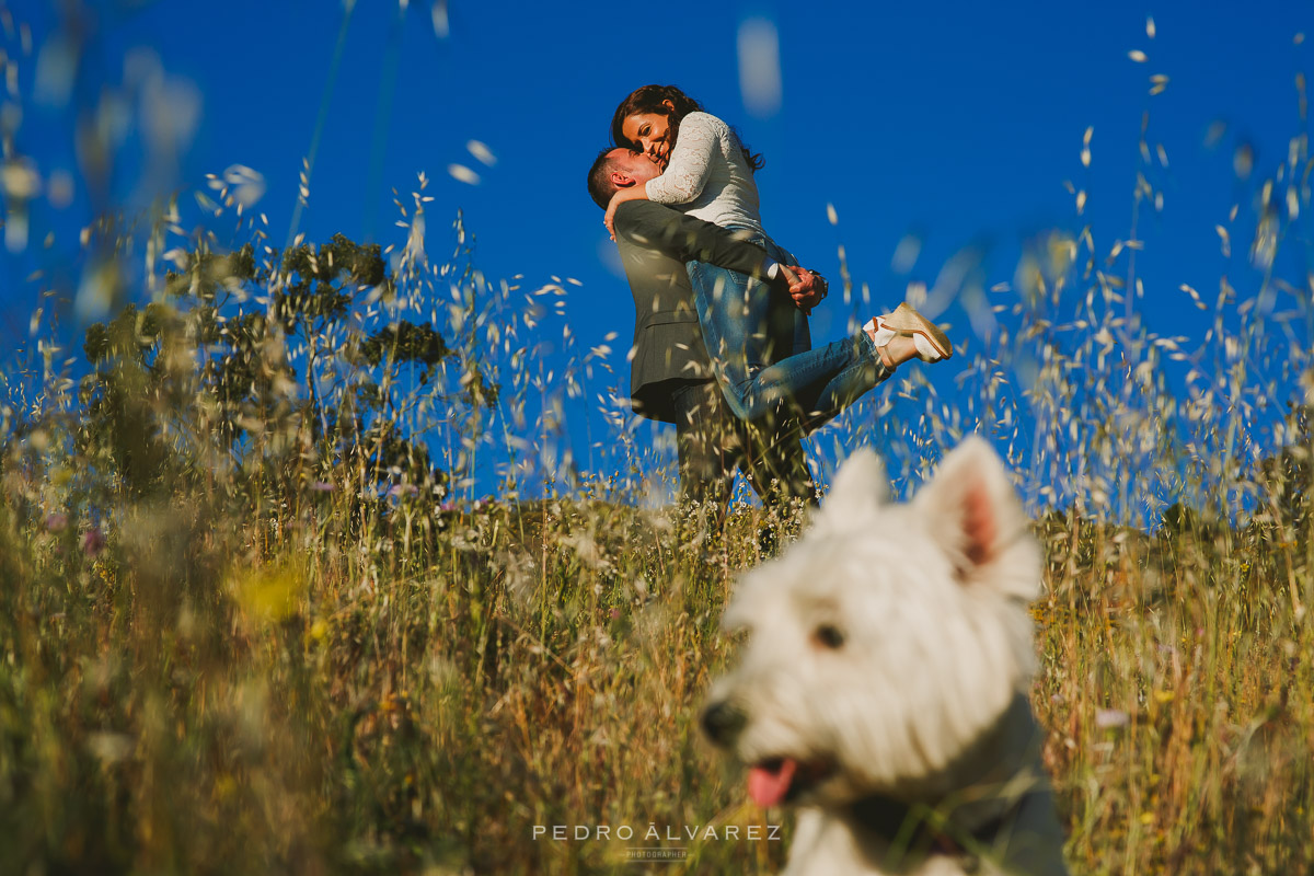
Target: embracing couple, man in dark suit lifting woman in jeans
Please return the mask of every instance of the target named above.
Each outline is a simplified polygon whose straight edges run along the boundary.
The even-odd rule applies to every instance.
[[[813,348],[827,282],[762,229],[762,156],[674,85],[631,93],[611,137],[589,194],[635,298],[635,411],[675,424],[682,499],[724,504],[740,469],[765,502],[815,502],[803,435],[903,362],[949,359],[949,339],[899,305]]]

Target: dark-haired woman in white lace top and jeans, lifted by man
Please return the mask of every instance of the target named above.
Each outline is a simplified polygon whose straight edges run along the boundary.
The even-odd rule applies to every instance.
[[[612,114],[611,137],[620,147],[646,154],[665,171],[643,185],[616,190],[603,219],[608,231],[618,205],[645,198],[741,230],[781,265],[798,265],[762,229],[753,181],[762,156],[683,91],[675,85],[636,89]],[[853,338],[816,349],[807,349],[807,323],[798,319],[794,355],[773,357],[761,330],[769,322],[767,286],[700,261],[690,261],[687,268],[703,340],[725,399],[741,419],[757,419],[786,398],[802,405],[805,415],[834,414],[901,362],[915,357],[934,362],[953,355],[953,344],[938,326],[899,305],[894,313],[869,320]]]

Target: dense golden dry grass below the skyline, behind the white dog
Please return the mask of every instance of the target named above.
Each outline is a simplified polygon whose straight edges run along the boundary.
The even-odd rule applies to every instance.
[[[0,831],[25,872],[631,872],[637,842],[535,825],[650,823],[696,872],[779,865],[725,838],[782,816],[695,729],[759,512],[708,537],[494,504],[402,554],[328,535],[346,503],[269,536],[194,499],[125,511],[93,559],[5,507]],[[1034,699],[1074,869],[1314,864],[1307,538],[1041,533]]]

